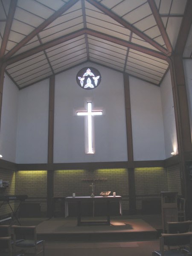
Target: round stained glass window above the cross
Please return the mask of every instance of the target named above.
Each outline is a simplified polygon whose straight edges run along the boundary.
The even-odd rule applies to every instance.
[[[90,90],[98,87],[101,74],[94,67],[84,67],[77,73],[76,80],[81,88]]]

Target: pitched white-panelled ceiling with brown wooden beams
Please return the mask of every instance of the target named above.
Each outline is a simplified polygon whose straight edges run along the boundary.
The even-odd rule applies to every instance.
[[[0,58],[19,89],[86,61],[160,85],[186,8],[187,0],[0,0]],[[183,57],[192,58],[192,28]]]

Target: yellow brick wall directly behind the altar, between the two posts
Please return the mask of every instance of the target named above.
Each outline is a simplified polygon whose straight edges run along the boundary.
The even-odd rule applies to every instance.
[[[67,197],[72,196],[73,193],[76,193],[76,196],[91,195],[91,182],[87,180],[93,179],[98,179],[95,195],[99,195],[101,191],[111,191],[111,195],[116,192],[116,195],[125,197],[123,207],[128,208],[127,169],[57,170],[54,172],[54,196]]]

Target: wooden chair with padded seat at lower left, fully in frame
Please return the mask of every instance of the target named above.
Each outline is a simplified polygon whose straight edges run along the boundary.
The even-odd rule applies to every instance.
[[[36,226],[16,226],[13,225],[13,238],[14,238],[14,252],[16,247],[22,247],[25,250],[32,249],[33,254],[36,256],[43,253],[44,256],[44,240],[37,239]],[[18,239],[23,239],[18,241]]]

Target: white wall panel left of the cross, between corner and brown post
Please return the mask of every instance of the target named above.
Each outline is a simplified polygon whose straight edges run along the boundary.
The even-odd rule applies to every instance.
[[[49,79],[19,91],[17,163],[47,163]]]

